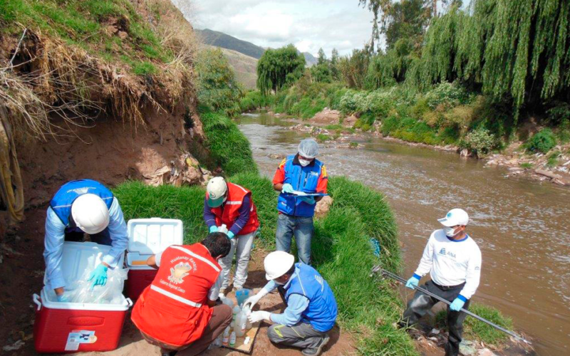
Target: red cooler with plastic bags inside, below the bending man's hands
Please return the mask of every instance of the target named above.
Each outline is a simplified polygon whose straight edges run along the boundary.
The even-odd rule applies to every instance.
[[[65,242],[61,268],[69,285],[83,276],[86,268],[95,268],[110,246],[93,242]],[[123,266],[123,257],[118,263]],[[44,278],[43,283],[46,283]],[[59,303],[49,300],[55,294],[44,286],[40,295],[33,295],[36,321],[33,339],[37,352],[110,351],[119,344],[127,310],[133,305],[121,295],[118,304]]]

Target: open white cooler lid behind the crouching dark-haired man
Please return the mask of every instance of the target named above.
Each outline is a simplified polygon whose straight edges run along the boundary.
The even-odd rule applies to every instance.
[[[177,219],[130,219],[127,224],[128,251],[154,255],[168,246],[182,245],[182,221]]]

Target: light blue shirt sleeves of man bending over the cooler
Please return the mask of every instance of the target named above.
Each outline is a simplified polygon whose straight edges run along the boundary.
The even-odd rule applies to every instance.
[[[113,203],[109,209],[109,234],[112,240],[111,249],[108,255],[103,256],[103,262],[111,268],[115,268],[120,256],[125,253],[129,242],[127,224],[123,217],[123,210],[120,209],[117,198],[113,198]],[[61,271],[61,255],[63,253],[63,241],[66,237],[66,226],[58,218],[55,211],[48,208],[46,216],[46,237],[44,239],[45,250],[43,258],[46,261],[47,284],[50,288],[60,288],[66,286]]]

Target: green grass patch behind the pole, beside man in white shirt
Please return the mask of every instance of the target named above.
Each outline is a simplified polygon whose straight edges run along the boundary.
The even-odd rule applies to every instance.
[[[502,313],[500,313],[497,309],[488,307],[487,305],[482,305],[480,303],[472,303],[472,305],[469,306],[469,310],[472,313],[475,313],[480,317],[501,326],[502,328],[513,330],[512,320],[502,315]],[[440,312],[435,315],[435,323],[438,328],[447,329],[447,326],[445,326],[445,315],[445,310],[440,310]],[[465,323],[463,323],[463,325],[465,327],[465,334],[463,338],[467,340],[479,340],[487,345],[495,346],[500,346],[509,340],[509,335],[470,316],[467,316],[467,318],[465,318]]]

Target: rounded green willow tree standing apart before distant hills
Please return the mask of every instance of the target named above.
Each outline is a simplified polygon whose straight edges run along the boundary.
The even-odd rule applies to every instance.
[[[269,48],[257,62],[257,88],[263,95],[278,92],[284,85],[301,78],[305,57],[290,44],[278,49]]]

